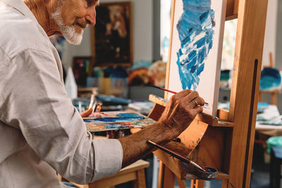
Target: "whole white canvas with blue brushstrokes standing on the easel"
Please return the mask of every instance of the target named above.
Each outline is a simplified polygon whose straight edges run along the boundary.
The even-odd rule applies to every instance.
[[[174,0],[166,88],[192,89],[216,115],[226,0]],[[172,94],[166,94],[169,99]]]

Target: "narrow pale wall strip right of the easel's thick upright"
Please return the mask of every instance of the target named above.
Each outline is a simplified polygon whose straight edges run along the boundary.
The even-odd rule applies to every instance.
[[[277,6],[278,0],[269,0],[266,15],[266,27],[264,35],[264,51],[262,54],[262,66],[270,65],[269,53],[271,52],[274,59],[276,56],[276,28],[277,28]]]

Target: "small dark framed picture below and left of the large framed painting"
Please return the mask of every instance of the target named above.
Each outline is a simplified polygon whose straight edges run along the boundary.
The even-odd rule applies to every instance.
[[[75,76],[75,82],[79,87],[86,86],[87,77],[92,74],[92,62],[91,56],[73,57],[73,75]]]

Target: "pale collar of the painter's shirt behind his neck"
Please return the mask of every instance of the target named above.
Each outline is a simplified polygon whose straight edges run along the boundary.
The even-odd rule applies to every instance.
[[[37,22],[37,19],[35,18],[35,15],[33,15],[32,11],[30,11],[30,8],[28,8],[25,3],[23,3],[22,0],[0,0],[4,3],[8,4],[9,6],[12,6],[17,11],[25,15],[27,18],[30,18]],[[38,23],[38,22],[37,22]]]

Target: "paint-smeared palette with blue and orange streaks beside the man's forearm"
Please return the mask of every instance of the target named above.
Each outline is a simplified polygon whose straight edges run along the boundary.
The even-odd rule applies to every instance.
[[[92,113],[90,117],[83,118],[83,120],[87,130],[90,132],[143,128],[155,123],[154,120],[147,118],[147,116],[132,111]]]

